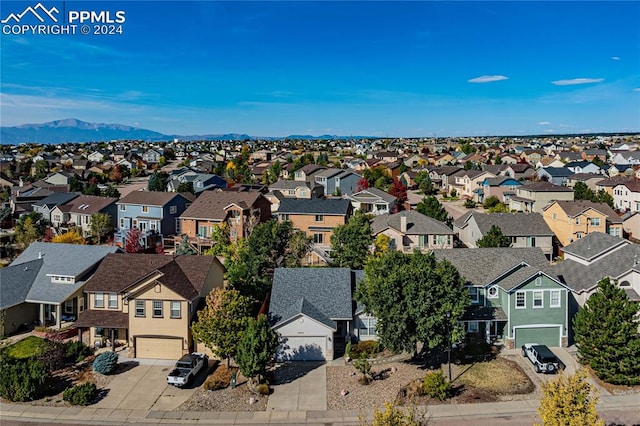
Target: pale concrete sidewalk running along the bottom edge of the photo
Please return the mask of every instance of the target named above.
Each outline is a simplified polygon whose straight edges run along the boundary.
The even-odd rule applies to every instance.
[[[429,418],[451,422],[490,419],[498,417],[530,418],[533,422],[539,401],[509,401],[485,404],[441,404],[426,408]],[[637,394],[603,396],[598,410],[624,412],[629,419],[640,421],[640,398]],[[249,425],[249,424],[340,424],[359,425],[361,416],[371,419],[372,410],[345,411],[258,411],[258,412],[210,412],[210,411],[146,411],[114,410],[78,407],[42,407],[22,404],[0,406],[0,419],[65,424],[201,424],[201,425]],[[531,422],[529,424],[531,424]]]

